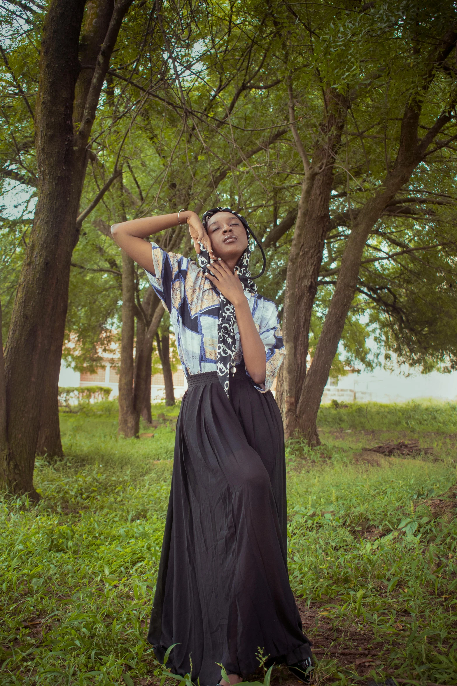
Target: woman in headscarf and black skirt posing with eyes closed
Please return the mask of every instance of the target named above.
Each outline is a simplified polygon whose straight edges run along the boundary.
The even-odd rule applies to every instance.
[[[147,237],[186,222],[199,265]],[[249,274],[247,222],[216,208],[111,228],[169,311],[188,390],[148,641],[177,674],[230,685],[269,662],[310,680],[310,642],[288,582],[284,432],[269,391],[284,357],[271,300]],[[229,686],[226,681],[221,681]]]

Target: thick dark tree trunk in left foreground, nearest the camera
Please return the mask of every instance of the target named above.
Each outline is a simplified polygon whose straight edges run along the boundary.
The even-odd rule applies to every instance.
[[[100,7],[106,1],[100,0]],[[62,348],[64,338],[88,139],[112,49],[131,1],[118,0],[112,10],[76,132],[73,105],[81,70],[78,50],[84,0],[51,0],[43,25],[35,113],[38,202],[5,349],[8,445],[0,477],[13,493],[29,493],[32,499],[38,499],[34,458],[48,374],[57,392],[60,365],[52,351]]]

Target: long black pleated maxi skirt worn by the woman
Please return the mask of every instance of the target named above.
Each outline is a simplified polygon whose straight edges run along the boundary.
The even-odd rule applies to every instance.
[[[284,430],[271,392],[243,365],[230,401],[216,372],[188,377],[147,640],[201,686],[256,671],[256,653],[291,665],[310,641],[286,565]],[[192,665],[192,667],[191,667]]]

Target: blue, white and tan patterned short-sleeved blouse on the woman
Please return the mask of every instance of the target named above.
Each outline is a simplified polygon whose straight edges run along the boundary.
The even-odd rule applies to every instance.
[[[169,311],[177,352],[186,377],[217,371],[217,321],[220,297],[203,270],[188,257],[165,252],[152,244],[156,274],[146,270],[147,278]],[[275,303],[257,293],[245,293],[252,318],[267,353],[265,383],[255,388],[267,392],[284,359],[284,344]],[[235,364],[243,357],[240,334],[235,324]],[[248,377],[249,374],[246,372]],[[250,377],[249,377],[250,378]]]

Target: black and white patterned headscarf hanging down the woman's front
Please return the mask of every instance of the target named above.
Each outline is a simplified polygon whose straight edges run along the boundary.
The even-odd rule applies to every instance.
[[[201,219],[201,223],[205,227],[205,230],[207,230],[208,228],[208,220],[210,219],[210,217],[212,217],[212,215],[216,214],[217,212],[232,213],[233,215],[238,217],[240,222],[245,227],[248,239],[247,248],[243,252],[243,255],[241,255],[238,262],[236,263],[235,269],[238,272],[238,278],[240,279],[243,285],[243,290],[251,293],[257,293],[257,287],[253,279],[258,279],[259,276],[262,276],[266,265],[265,254],[262,249],[262,246],[260,245],[254,233],[252,233],[251,228],[249,228],[249,224],[245,220],[245,217],[242,217],[238,213],[231,210],[229,207],[214,207],[213,209],[208,210],[208,212],[205,212]],[[264,261],[262,271],[260,272],[260,274],[257,274],[257,276],[251,276],[251,272],[249,272],[249,257],[251,257],[251,248],[249,247],[250,236],[252,236],[258,244],[262,252],[262,257]],[[201,252],[199,255],[197,255],[197,260],[199,262],[201,269],[204,272],[206,272],[208,264],[211,261],[210,256],[208,254],[208,251],[204,248],[203,244],[200,243],[199,245]],[[219,382],[223,386],[223,389],[227,393],[227,397],[229,397],[230,370],[232,370],[233,374],[235,372],[234,357],[236,348],[236,338],[234,332],[234,324],[236,322],[236,316],[234,305],[232,305],[232,303],[230,303],[230,300],[227,300],[227,298],[225,298],[222,294],[220,295],[221,303],[219,309],[219,320],[217,322],[217,376],[219,378]]]

